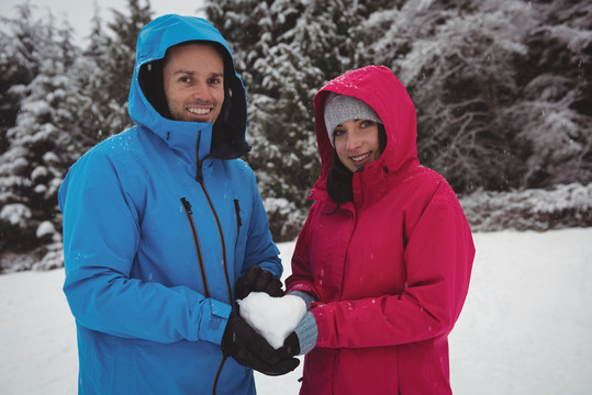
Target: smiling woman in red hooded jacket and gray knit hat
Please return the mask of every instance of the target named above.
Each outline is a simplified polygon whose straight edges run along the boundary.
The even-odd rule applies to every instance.
[[[447,337],[474,247],[446,180],[422,167],[415,108],[384,67],[314,98],[322,160],[287,291],[310,312],[284,342],[301,394],[450,394]]]

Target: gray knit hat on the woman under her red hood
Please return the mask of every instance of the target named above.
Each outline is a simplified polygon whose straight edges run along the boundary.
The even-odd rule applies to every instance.
[[[333,148],[335,148],[333,131],[337,125],[351,120],[368,120],[382,124],[376,111],[361,100],[328,92],[325,100],[325,126]]]

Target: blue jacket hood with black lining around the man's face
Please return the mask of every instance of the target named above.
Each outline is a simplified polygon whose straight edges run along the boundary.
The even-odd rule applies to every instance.
[[[224,104],[214,125],[170,120],[166,105],[161,59],[171,46],[193,41],[212,43],[224,58]],[[156,133],[174,149],[194,150],[199,131],[199,159],[234,159],[250,150],[245,139],[245,87],[236,74],[231,48],[220,32],[201,18],[163,15],[139,32],[127,108],[134,123]]]

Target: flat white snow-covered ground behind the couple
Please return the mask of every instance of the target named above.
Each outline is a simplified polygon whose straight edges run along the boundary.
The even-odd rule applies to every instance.
[[[474,240],[469,296],[450,336],[455,394],[590,394],[592,228]],[[294,245],[279,248],[287,264]],[[76,332],[63,280],[63,269],[0,275],[0,394],[76,393]],[[298,394],[301,373],[257,374],[258,392]]]

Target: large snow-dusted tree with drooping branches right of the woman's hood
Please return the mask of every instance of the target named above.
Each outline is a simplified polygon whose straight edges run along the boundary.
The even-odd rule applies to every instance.
[[[587,1],[400,1],[372,58],[410,89],[423,162],[459,192],[591,179]]]

